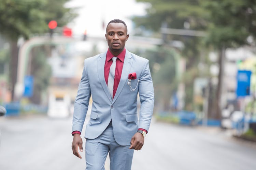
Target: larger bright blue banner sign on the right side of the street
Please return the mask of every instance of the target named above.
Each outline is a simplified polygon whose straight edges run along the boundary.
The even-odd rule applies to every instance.
[[[250,83],[252,71],[238,70],[237,97],[250,96]]]

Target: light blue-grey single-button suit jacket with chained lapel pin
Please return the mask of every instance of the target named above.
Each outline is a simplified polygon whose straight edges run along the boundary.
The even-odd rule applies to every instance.
[[[138,128],[148,131],[154,107],[154,89],[148,60],[126,50],[122,75],[114,99],[111,99],[104,79],[106,52],[85,59],[82,79],[74,104],[73,131],[82,131],[90,96],[93,99],[90,120],[85,138],[95,139],[112,120],[113,133],[119,145],[130,145]],[[136,72],[137,79],[128,85],[129,73]],[[140,96],[140,118],[137,116],[137,96]]]

